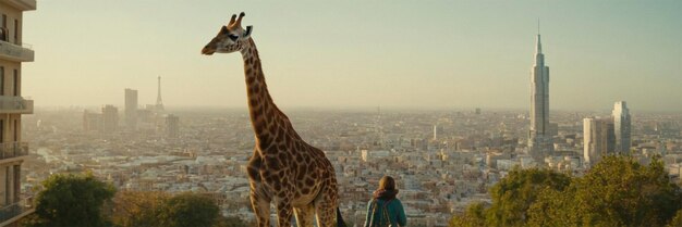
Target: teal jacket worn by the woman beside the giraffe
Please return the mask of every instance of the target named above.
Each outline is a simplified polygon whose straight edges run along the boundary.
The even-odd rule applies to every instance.
[[[383,203],[386,203],[386,201],[381,200],[381,199],[376,199],[377,200],[377,211],[374,213],[374,218],[372,217],[372,211],[374,210],[374,199],[369,200],[369,202],[367,203],[367,218],[365,219],[365,227],[372,227],[374,225],[379,225],[379,218],[381,218],[381,214],[383,214]],[[388,205],[386,205],[386,209],[388,209],[388,215],[389,215],[389,219],[391,222],[391,227],[398,227],[400,226],[406,226],[407,225],[407,217],[405,217],[405,210],[403,210],[403,204],[400,202],[399,199],[392,199]],[[373,220],[373,223],[369,223],[370,220]],[[386,220],[383,220],[386,222]]]

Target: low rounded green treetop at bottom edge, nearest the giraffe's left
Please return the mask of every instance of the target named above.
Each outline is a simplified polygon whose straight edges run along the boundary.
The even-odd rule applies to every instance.
[[[182,193],[163,203],[159,224],[163,227],[210,227],[217,223],[219,211],[208,197]]]

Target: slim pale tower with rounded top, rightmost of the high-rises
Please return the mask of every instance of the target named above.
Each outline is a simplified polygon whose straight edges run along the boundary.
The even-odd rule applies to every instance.
[[[616,130],[616,152],[620,154],[630,154],[630,137],[631,122],[630,110],[625,101],[616,102],[613,104],[613,127]]]

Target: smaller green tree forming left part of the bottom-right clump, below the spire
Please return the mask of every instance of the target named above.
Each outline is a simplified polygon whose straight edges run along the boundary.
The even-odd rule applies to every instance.
[[[490,189],[492,204],[486,211],[488,226],[526,226],[527,211],[547,188],[562,191],[571,177],[548,169],[512,169]]]

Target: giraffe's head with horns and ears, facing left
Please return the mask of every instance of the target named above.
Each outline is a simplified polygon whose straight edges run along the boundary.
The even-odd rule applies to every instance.
[[[231,53],[242,50],[246,46],[252,30],[252,26],[246,26],[246,29],[242,28],[244,15],[242,12],[238,18],[235,14],[232,14],[230,23],[220,27],[218,35],[202,49],[202,54],[211,55],[215,52]]]

